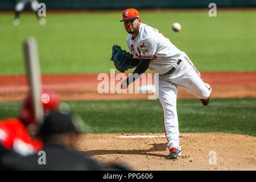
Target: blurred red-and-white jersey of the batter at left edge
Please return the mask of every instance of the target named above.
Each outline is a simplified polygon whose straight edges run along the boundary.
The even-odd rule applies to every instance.
[[[34,154],[43,147],[42,141],[32,140],[23,123],[15,118],[0,120],[0,144],[22,156]]]

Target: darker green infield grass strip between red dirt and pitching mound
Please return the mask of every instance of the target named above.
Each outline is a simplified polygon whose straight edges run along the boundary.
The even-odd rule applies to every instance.
[[[164,133],[158,100],[67,101],[86,123],[87,133]],[[0,103],[0,119],[15,117],[20,102]],[[256,98],[178,99],[181,133],[233,133],[256,137]]]

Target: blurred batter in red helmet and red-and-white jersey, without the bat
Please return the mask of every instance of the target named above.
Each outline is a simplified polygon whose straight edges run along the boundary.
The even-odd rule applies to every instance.
[[[55,93],[43,90],[41,96],[44,114],[59,109],[59,99]],[[44,98],[45,96],[47,97]],[[0,155],[13,151],[20,156],[27,156],[41,150],[41,140],[34,138],[36,129],[38,123],[33,111],[31,94],[28,94],[23,101],[18,119],[0,120]]]

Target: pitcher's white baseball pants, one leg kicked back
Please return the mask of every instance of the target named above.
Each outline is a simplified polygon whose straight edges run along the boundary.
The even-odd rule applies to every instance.
[[[180,60],[182,60],[181,63],[175,65],[176,69],[171,75],[154,74],[156,94],[163,108],[164,129],[169,150],[172,147],[181,150],[176,110],[177,85],[201,99],[208,98],[212,92],[210,85],[203,81],[200,73],[184,52]]]

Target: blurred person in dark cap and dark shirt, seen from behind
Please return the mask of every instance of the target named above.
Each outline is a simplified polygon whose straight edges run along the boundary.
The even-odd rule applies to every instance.
[[[24,158],[6,156],[5,164],[11,170],[46,170],[46,171],[95,171],[103,170],[103,166],[95,160],[86,158],[75,149],[79,135],[76,121],[71,115],[61,111],[49,113],[39,130],[39,138],[43,141],[42,159],[38,154]],[[45,157],[45,158],[44,158]],[[7,162],[6,162],[7,161]]]

